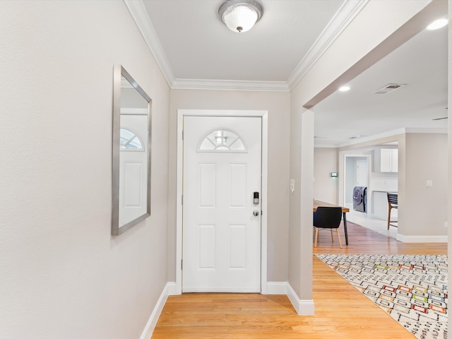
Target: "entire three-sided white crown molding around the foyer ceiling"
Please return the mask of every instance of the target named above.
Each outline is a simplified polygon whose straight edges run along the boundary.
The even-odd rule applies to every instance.
[[[129,9],[133,20],[141,35],[148,44],[150,52],[162,70],[163,76],[172,89],[199,89],[199,90],[261,90],[290,92],[292,88],[306,75],[312,66],[319,60],[324,52],[333,44],[347,25],[366,6],[369,0],[345,0],[338,13],[331,19],[321,35],[314,42],[308,53],[292,72],[287,81],[224,81],[207,79],[180,79],[174,78],[174,73],[165,52],[154,30],[153,24],[146,12],[143,0],[123,0]]]

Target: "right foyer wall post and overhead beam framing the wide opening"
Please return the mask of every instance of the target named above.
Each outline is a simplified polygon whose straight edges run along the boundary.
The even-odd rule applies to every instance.
[[[312,299],[312,107],[405,42],[416,25],[397,30],[424,8],[422,18],[432,15],[430,2],[369,1],[291,91],[290,177],[299,178],[299,186],[290,200],[289,283],[302,300]]]

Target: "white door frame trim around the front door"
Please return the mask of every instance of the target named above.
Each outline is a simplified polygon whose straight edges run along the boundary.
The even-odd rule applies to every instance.
[[[261,117],[262,118],[262,191],[261,191],[261,293],[267,294],[267,168],[268,168],[268,111],[224,109],[177,110],[177,210],[176,210],[176,295],[182,294],[182,178],[184,117]]]

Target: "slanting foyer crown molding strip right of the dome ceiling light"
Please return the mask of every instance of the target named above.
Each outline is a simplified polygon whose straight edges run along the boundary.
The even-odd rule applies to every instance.
[[[367,5],[369,0],[350,1],[345,0],[344,4],[340,6],[338,13],[326,25],[326,28],[321,32],[314,44],[311,46],[302,61],[298,64],[295,70],[287,79],[287,86],[292,88],[307,74],[314,64],[320,59],[323,53],[335,42],[338,36],[347,28],[352,20],[362,11],[362,8]]]

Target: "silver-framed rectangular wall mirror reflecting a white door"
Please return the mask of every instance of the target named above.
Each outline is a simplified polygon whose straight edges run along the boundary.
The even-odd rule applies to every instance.
[[[112,235],[150,216],[151,100],[121,65],[114,65]]]

